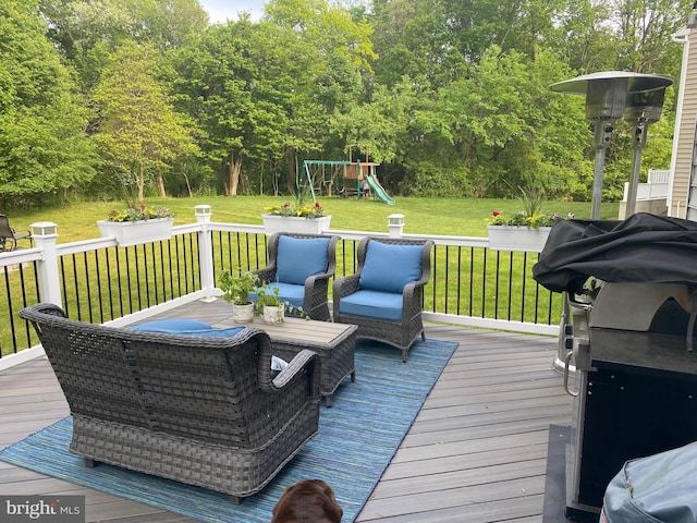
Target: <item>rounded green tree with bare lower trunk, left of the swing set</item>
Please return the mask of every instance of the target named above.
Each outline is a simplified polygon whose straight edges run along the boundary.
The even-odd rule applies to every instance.
[[[174,59],[180,105],[203,130],[201,148],[220,166],[228,196],[237,194],[245,160],[282,154],[280,136],[288,121],[279,98],[288,95],[279,89],[283,76],[273,82],[264,61],[254,59],[265,48],[259,26],[243,19],[210,27]]]

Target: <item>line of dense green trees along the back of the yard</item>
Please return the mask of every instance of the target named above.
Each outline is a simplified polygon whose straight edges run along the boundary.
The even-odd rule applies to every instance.
[[[399,195],[590,199],[597,71],[680,76],[688,0],[4,0],[0,205],[292,194],[305,159],[381,163]],[[650,126],[668,168],[680,86]],[[614,125],[603,199],[631,170]]]

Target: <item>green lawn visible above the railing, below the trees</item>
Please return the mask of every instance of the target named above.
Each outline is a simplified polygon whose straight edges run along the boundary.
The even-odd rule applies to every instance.
[[[201,196],[194,198],[148,198],[149,205],[167,206],[178,212],[174,224],[193,223],[194,207],[208,204],[212,207],[212,220],[231,223],[261,224],[264,208],[288,202],[285,197],[273,196]],[[493,210],[515,214],[522,209],[518,200],[509,199],[464,199],[464,198],[405,198],[395,197],[396,205],[386,205],[378,200],[319,197],[325,214],[331,215],[331,229],[388,232],[388,216],[393,212],[404,215],[404,232],[413,234],[445,234],[464,236],[486,236],[487,218]],[[28,229],[37,221],[52,221],[58,224],[59,243],[88,240],[99,236],[95,223],[106,219],[111,209],[125,207],[122,202],[88,202],[64,207],[32,209],[10,214],[10,223],[17,231]],[[616,219],[617,203],[602,205],[601,218]],[[565,216],[574,212],[576,218],[590,216],[590,203],[549,202],[545,212]]]

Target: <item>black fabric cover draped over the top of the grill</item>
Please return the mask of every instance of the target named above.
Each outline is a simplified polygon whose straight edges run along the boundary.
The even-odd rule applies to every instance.
[[[533,276],[551,291],[576,294],[589,277],[697,284],[697,222],[646,212],[626,220],[560,220]]]

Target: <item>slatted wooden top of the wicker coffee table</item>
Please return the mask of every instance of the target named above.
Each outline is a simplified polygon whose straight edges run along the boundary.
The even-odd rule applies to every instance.
[[[230,327],[240,327],[232,319],[232,315],[217,324],[213,327],[222,329]],[[298,341],[307,345],[335,345],[345,338],[350,337],[358,328],[355,325],[334,324],[331,321],[315,321],[302,318],[286,317],[279,324],[266,324],[258,316],[254,317],[246,327],[256,327],[257,329],[268,332],[271,341]]]

